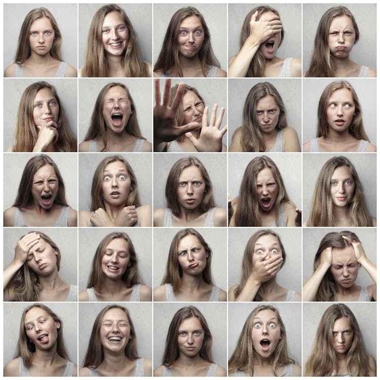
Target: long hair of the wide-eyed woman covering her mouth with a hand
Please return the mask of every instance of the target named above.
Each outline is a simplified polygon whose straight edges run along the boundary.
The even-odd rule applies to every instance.
[[[237,297],[242,292],[242,290],[244,288],[244,285],[246,284],[246,282],[248,280],[248,277],[252,273],[252,256],[253,256],[253,252],[254,252],[254,247],[255,247],[256,241],[257,241],[257,239],[261,238],[261,236],[265,236],[265,235],[273,235],[277,239],[277,241],[279,242],[279,245],[280,245],[280,249],[281,249],[281,253],[282,253],[282,258],[283,258],[283,262],[281,264],[280,269],[285,264],[286,252],[285,252],[285,248],[284,248],[284,246],[283,246],[283,244],[281,242],[280,236],[278,234],[276,234],[272,230],[260,230],[260,231],[257,231],[256,233],[254,233],[249,238],[249,240],[247,242],[247,245],[245,246],[244,255],[243,255],[243,262],[242,262],[242,277],[240,279],[239,286],[234,291],[235,297]],[[264,299],[264,296],[263,296],[264,295],[264,290],[265,290],[265,283],[262,283],[260,285],[259,289],[257,290],[257,293],[256,293],[255,298],[253,299],[253,301],[256,301],[256,302],[268,301],[268,299]]]

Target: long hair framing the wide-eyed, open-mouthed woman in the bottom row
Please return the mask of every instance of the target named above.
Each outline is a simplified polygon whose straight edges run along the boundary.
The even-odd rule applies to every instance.
[[[275,376],[277,366],[285,366],[287,364],[295,364],[295,360],[288,354],[288,345],[286,341],[286,330],[284,322],[281,319],[279,311],[272,305],[258,305],[249,314],[240,333],[235,350],[229,360],[229,372],[235,370],[248,371],[249,376],[254,375],[254,358],[255,350],[252,342],[252,328],[254,317],[263,310],[272,310],[275,313],[277,321],[280,325],[281,339],[278,341],[277,347],[272,354],[273,364],[272,370]]]

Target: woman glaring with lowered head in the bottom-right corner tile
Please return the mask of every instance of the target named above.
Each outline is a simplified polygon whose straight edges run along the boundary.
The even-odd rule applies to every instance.
[[[358,321],[343,303],[329,306],[319,322],[305,376],[376,376]]]

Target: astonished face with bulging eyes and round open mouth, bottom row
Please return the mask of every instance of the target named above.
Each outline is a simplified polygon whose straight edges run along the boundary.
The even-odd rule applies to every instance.
[[[251,339],[255,354],[272,356],[281,339],[280,323],[272,310],[261,310],[254,316]]]

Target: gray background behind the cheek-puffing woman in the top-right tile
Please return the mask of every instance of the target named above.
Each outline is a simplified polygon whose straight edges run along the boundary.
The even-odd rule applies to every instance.
[[[303,4],[303,69],[310,65],[317,27],[323,14],[331,7],[343,5],[354,15],[360,38],[350,53],[350,59],[359,65],[376,70],[376,4]]]

